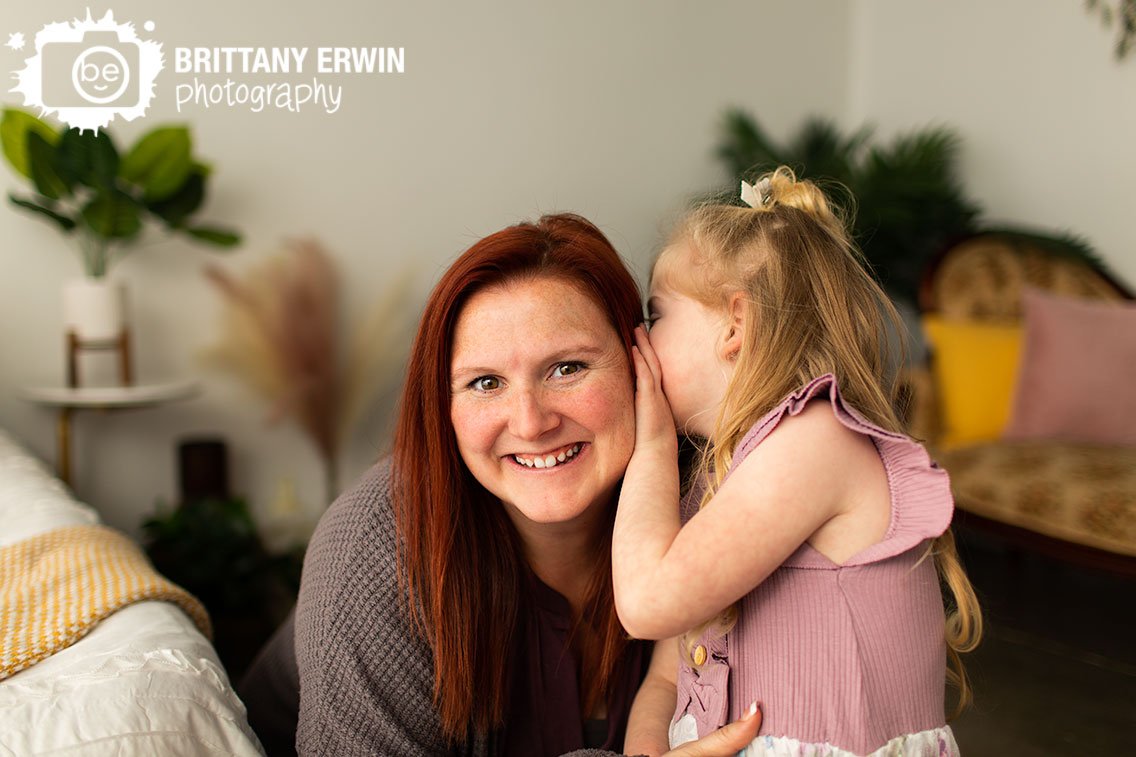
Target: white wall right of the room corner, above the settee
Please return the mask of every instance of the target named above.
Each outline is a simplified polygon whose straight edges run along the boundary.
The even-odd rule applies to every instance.
[[[1114,39],[1079,0],[858,0],[849,118],[954,127],[987,218],[1081,234],[1136,284],[1136,56]]]

